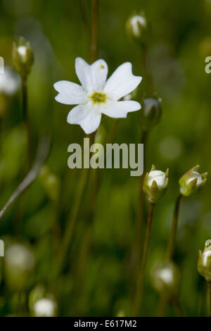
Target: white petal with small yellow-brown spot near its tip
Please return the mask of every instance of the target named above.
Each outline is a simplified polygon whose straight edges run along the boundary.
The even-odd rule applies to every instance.
[[[91,65],[91,75],[93,87],[96,91],[102,91],[108,75],[108,65],[106,61],[100,59]]]

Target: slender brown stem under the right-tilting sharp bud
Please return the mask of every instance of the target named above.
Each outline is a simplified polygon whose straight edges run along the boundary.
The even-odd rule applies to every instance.
[[[172,260],[174,255],[174,246],[175,246],[175,240],[177,236],[177,225],[178,225],[178,218],[179,218],[179,206],[181,201],[181,194],[177,197],[176,204],[174,207],[174,216],[172,221],[172,229],[170,233],[170,239],[167,246],[167,260]]]

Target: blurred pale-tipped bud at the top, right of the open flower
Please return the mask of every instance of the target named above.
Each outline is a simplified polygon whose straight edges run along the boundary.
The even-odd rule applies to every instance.
[[[144,13],[132,15],[126,23],[127,34],[142,46],[146,44],[148,23]]]

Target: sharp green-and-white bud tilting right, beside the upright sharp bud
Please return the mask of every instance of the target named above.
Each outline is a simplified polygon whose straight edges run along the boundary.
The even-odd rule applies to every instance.
[[[202,188],[207,182],[207,173],[198,173],[199,165],[188,170],[179,180],[180,193],[188,196]]]

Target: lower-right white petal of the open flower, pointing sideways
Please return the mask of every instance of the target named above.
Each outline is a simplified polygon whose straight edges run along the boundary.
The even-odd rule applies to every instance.
[[[139,111],[141,105],[136,101],[112,101],[108,104],[108,108],[104,108],[102,113],[112,118],[126,118],[127,113],[131,111]]]

